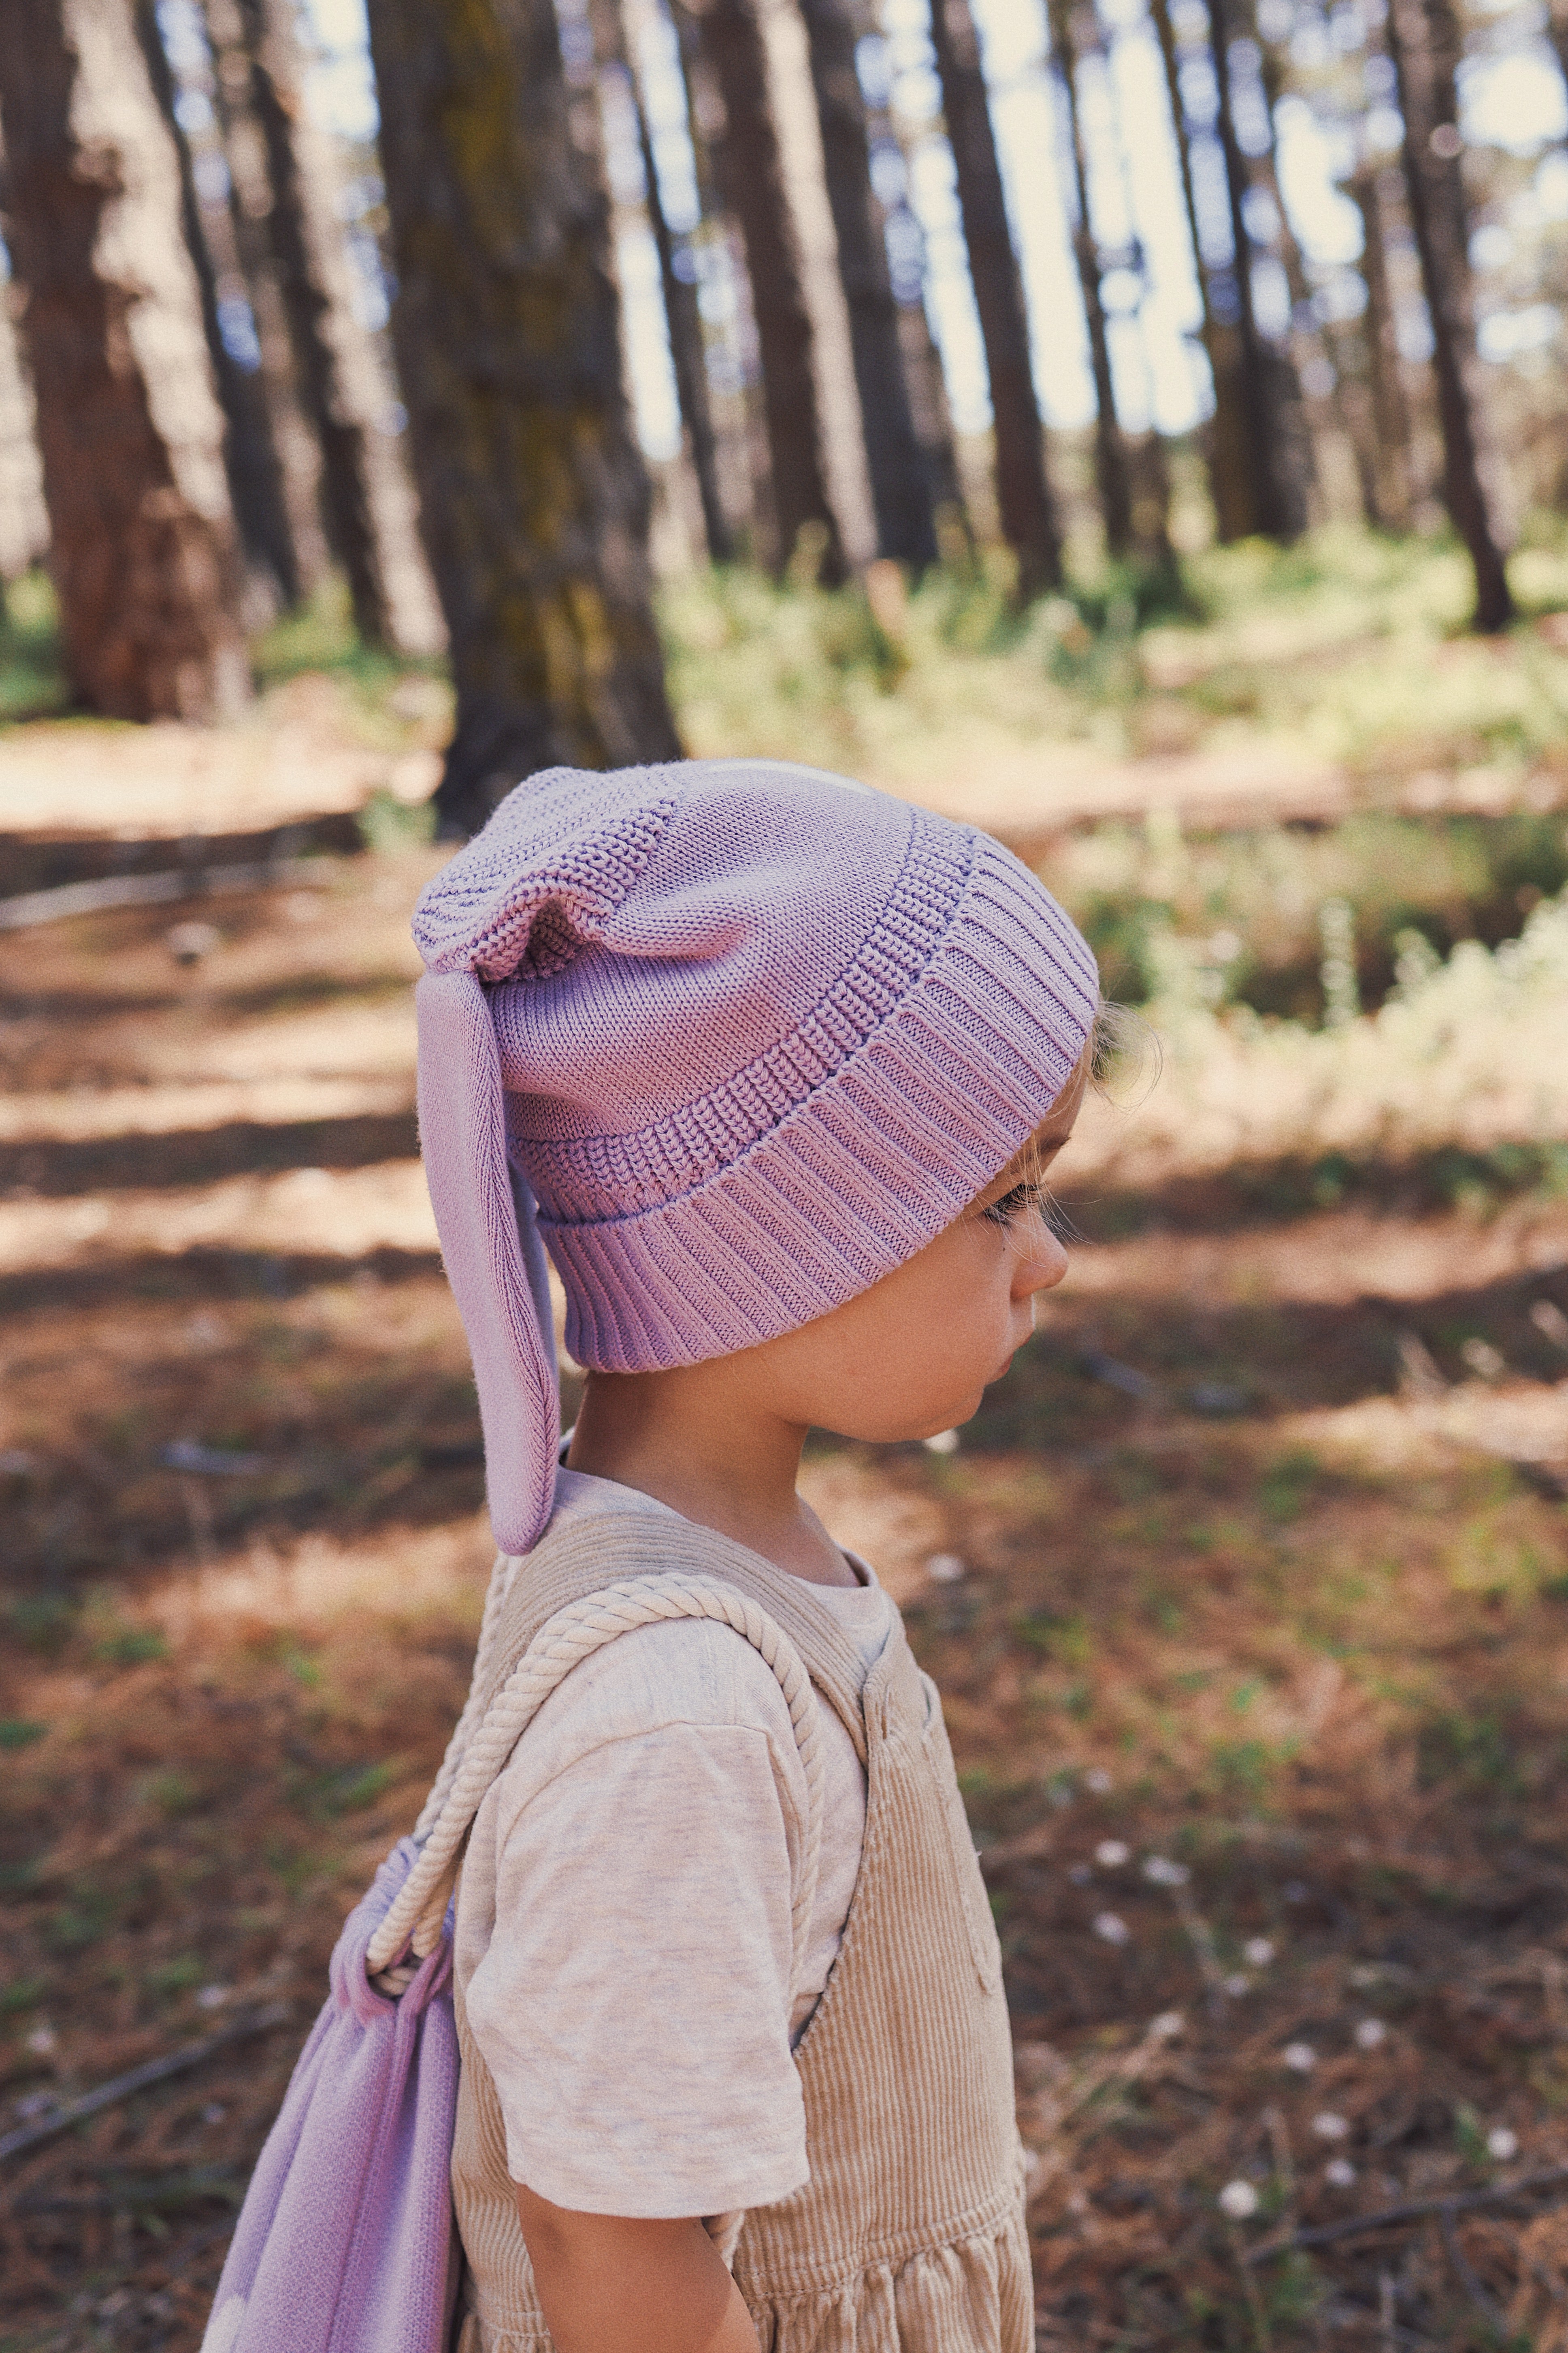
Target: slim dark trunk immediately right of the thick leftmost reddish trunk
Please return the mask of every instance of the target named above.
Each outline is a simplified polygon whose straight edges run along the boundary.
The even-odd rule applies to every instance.
[[[195,193],[190,141],[179,120],[179,94],[158,31],[153,0],[136,0],[136,33],[148,61],[153,94],[179,160],[179,212],[202,301],[207,358],[212,360],[212,376],[228,426],[223,435],[223,471],[228,475],[228,496],[240,529],[240,546],[249,562],[270,576],[277,602],[284,607],[299,605],[299,555],[294,553],[294,532],[289,529],[289,508],[282,494],[282,468],[266,405],[266,384],[261,381],[261,372],[242,367],[223,341],[219,325],[219,266]]]

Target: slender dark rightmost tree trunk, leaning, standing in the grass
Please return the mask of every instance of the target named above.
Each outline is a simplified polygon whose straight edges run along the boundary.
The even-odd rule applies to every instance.
[[[1462,141],[1455,120],[1458,21],[1448,0],[1389,0],[1387,42],[1403,115],[1403,174],[1422,289],[1432,315],[1432,374],[1443,435],[1443,504],[1469,548],[1479,631],[1514,619],[1502,548],[1481,480],[1476,336],[1469,315],[1469,240]]]

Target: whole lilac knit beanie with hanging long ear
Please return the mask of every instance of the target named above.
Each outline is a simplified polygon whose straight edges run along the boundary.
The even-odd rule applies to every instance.
[[[496,1541],[552,1508],[567,1346],[776,1339],[924,1249],[1039,1127],[1095,962],[973,826],[783,760],[520,784],[414,915],[418,1129]]]

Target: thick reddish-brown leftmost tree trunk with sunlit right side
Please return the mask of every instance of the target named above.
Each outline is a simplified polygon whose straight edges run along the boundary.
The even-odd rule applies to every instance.
[[[249,692],[223,416],[129,0],[12,9],[0,122],[71,682],[115,718],[219,718]]]

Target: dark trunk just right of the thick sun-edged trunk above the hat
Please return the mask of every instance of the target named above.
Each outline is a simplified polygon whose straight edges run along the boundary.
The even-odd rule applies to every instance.
[[[849,0],[799,0],[799,7],[811,47],[811,87],[839,245],[839,278],[849,304],[877,553],[919,569],[936,562],[936,525],[910,409],[886,240],[872,198],[865,99],[856,73],[856,21]]]

